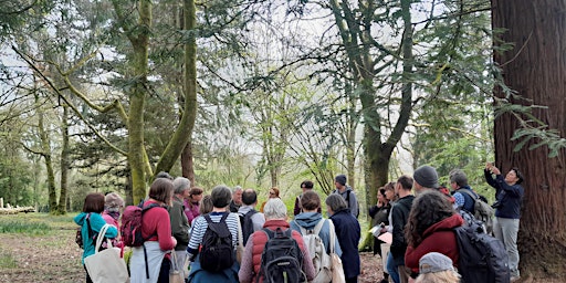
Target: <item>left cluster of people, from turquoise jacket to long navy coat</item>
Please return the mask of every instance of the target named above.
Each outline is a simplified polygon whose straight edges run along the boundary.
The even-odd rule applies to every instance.
[[[272,237],[270,231],[290,232],[290,238],[296,241],[302,253],[302,280],[311,281],[317,276],[317,271],[302,231],[313,231],[317,224],[321,227],[317,237],[324,252],[335,253],[342,259],[345,282],[357,282],[360,273],[357,251],[360,227],[355,217],[357,212],[353,213],[353,209],[357,210],[357,199],[352,188],[346,186],[344,175],[337,176],[335,184],[335,193],[325,200],[329,220],[323,218],[321,197],[313,190],[313,182],[305,180],[301,184],[303,193],[295,203],[297,213],[287,221],[287,209],[279,197],[277,188],[270,189],[270,198],[256,211],[258,193],[253,189],[235,187],[231,190],[217,186],[210,195],[202,196],[203,190],[191,188],[190,180],[159,174],[149,188],[148,197],[139,205],[144,243],[132,248],[130,282],[168,282],[171,266],[185,266],[187,260],[190,271],[182,276],[188,282],[262,281],[265,276],[261,271],[262,253]],[[347,190],[349,192],[345,192]],[[122,245],[118,228],[123,210],[124,200],[115,192],[86,196],[83,211],[74,218],[75,223],[82,227],[83,264],[85,258],[95,253],[97,234],[106,223],[112,227],[104,237],[113,239],[114,245]],[[206,253],[208,233],[212,228],[218,229],[217,223],[226,223],[237,260],[226,269],[211,271],[202,266],[205,263],[200,258]],[[88,272],[86,282],[92,282]]]

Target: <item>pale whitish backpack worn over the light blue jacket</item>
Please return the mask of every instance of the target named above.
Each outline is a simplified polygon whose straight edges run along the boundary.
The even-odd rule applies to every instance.
[[[314,230],[306,230],[305,228],[297,224],[301,228],[301,234],[303,235],[303,241],[305,242],[305,247],[308,250],[308,254],[311,255],[311,261],[313,262],[315,271],[315,277],[313,281],[311,281],[312,283],[328,283],[332,281],[331,255],[326,253],[323,240],[318,235],[324,226],[324,222],[326,222],[326,220],[321,219],[314,227]]]

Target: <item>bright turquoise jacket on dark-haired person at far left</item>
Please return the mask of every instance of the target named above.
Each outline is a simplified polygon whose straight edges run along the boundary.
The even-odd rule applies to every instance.
[[[76,224],[81,226],[81,234],[83,237],[83,258],[82,262],[84,264],[84,258],[94,254],[94,245],[96,244],[96,235],[101,231],[102,227],[106,224],[106,221],[104,221],[104,218],[99,213],[91,212],[91,217],[88,218],[88,221],[91,222],[91,229],[92,234],[94,239],[88,237],[88,224],[86,223],[86,214],[85,212],[81,212],[78,216],[76,216],[73,221],[75,221]],[[118,229],[114,226],[111,226],[108,230],[106,230],[105,237],[108,239],[116,238],[118,235]]]

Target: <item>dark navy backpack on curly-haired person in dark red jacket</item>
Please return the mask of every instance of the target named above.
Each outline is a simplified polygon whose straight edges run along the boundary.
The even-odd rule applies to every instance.
[[[454,229],[458,242],[458,272],[462,283],[510,282],[509,258],[503,242],[478,232],[476,227]]]

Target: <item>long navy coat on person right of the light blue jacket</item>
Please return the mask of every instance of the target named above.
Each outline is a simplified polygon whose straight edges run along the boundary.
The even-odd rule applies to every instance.
[[[356,277],[360,273],[358,244],[360,228],[358,220],[352,216],[349,209],[336,211],[331,217],[336,229],[336,235],[342,248],[342,264],[346,279]]]

